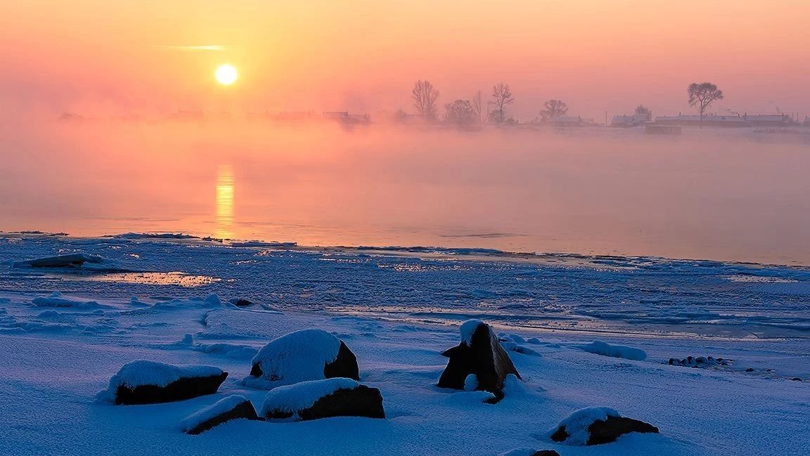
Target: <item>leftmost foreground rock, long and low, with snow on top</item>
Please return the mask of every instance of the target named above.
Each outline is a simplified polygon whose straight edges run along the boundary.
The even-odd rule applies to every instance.
[[[213,366],[136,360],[124,364],[97,398],[123,405],[181,401],[216,393],[226,377],[227,372]]]

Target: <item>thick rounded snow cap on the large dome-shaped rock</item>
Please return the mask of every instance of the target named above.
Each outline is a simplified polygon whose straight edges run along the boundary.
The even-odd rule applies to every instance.
[[[324,364],[338,357],[340,339],[325,330],[298,330],[271,341],[254,356],[262,377],[245,377],[245,386],[270,389],[324,378]]]

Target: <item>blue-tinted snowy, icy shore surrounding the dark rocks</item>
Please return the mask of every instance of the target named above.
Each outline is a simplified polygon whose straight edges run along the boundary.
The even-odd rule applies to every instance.
[[[79,252],[118,268],[13,267]],[[0,263],[0,454],[801,454],[810,447],[805,269],[36,236],[0,237]],[[255,304],[228,302],[237,297]],[[469,317],[501,331],[525,380],[495,405],[481,403],[480,392],[436,387],[447,362],[441,352],[458,343],[458,323]],[[385,420],[239,420],[199,436],[181,432],[186,416],[232,394],[261,404],[267,391],[240,381],[251,359],[271,339],[305,328],[351,347],[360,382],[382,393]],[[667,362],[687,356],[729,362],[706,369]],[[96,402],[123,364],[143,359],[232,375],[217,394],[188,401]],[[582,407],[611,407],[661,433],[594,447],[551,441],[549,431]]]

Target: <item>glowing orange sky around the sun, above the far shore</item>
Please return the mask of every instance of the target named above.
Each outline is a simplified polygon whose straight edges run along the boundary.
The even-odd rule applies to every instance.
[[[687,111],[703,80],[718,108],[807,113],[808,22],[807,0],[3,1],[0,114],[375,113],[410,109],[420,78],[441,102],[503,80],[522,120],[552,97],[599,121]],[[214,83],[222,62],[233,87]]]

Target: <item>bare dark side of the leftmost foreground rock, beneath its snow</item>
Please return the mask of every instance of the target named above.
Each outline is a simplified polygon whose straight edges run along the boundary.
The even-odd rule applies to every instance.
[[[220,375],[208,377],[182,377],[166,386],[118,386],[115,394],[115,403],[119,405],[139,405],[147,403],[170,403],[196,398],[206,394],[214,394],[222,382],[228,377],[224,372]]]

